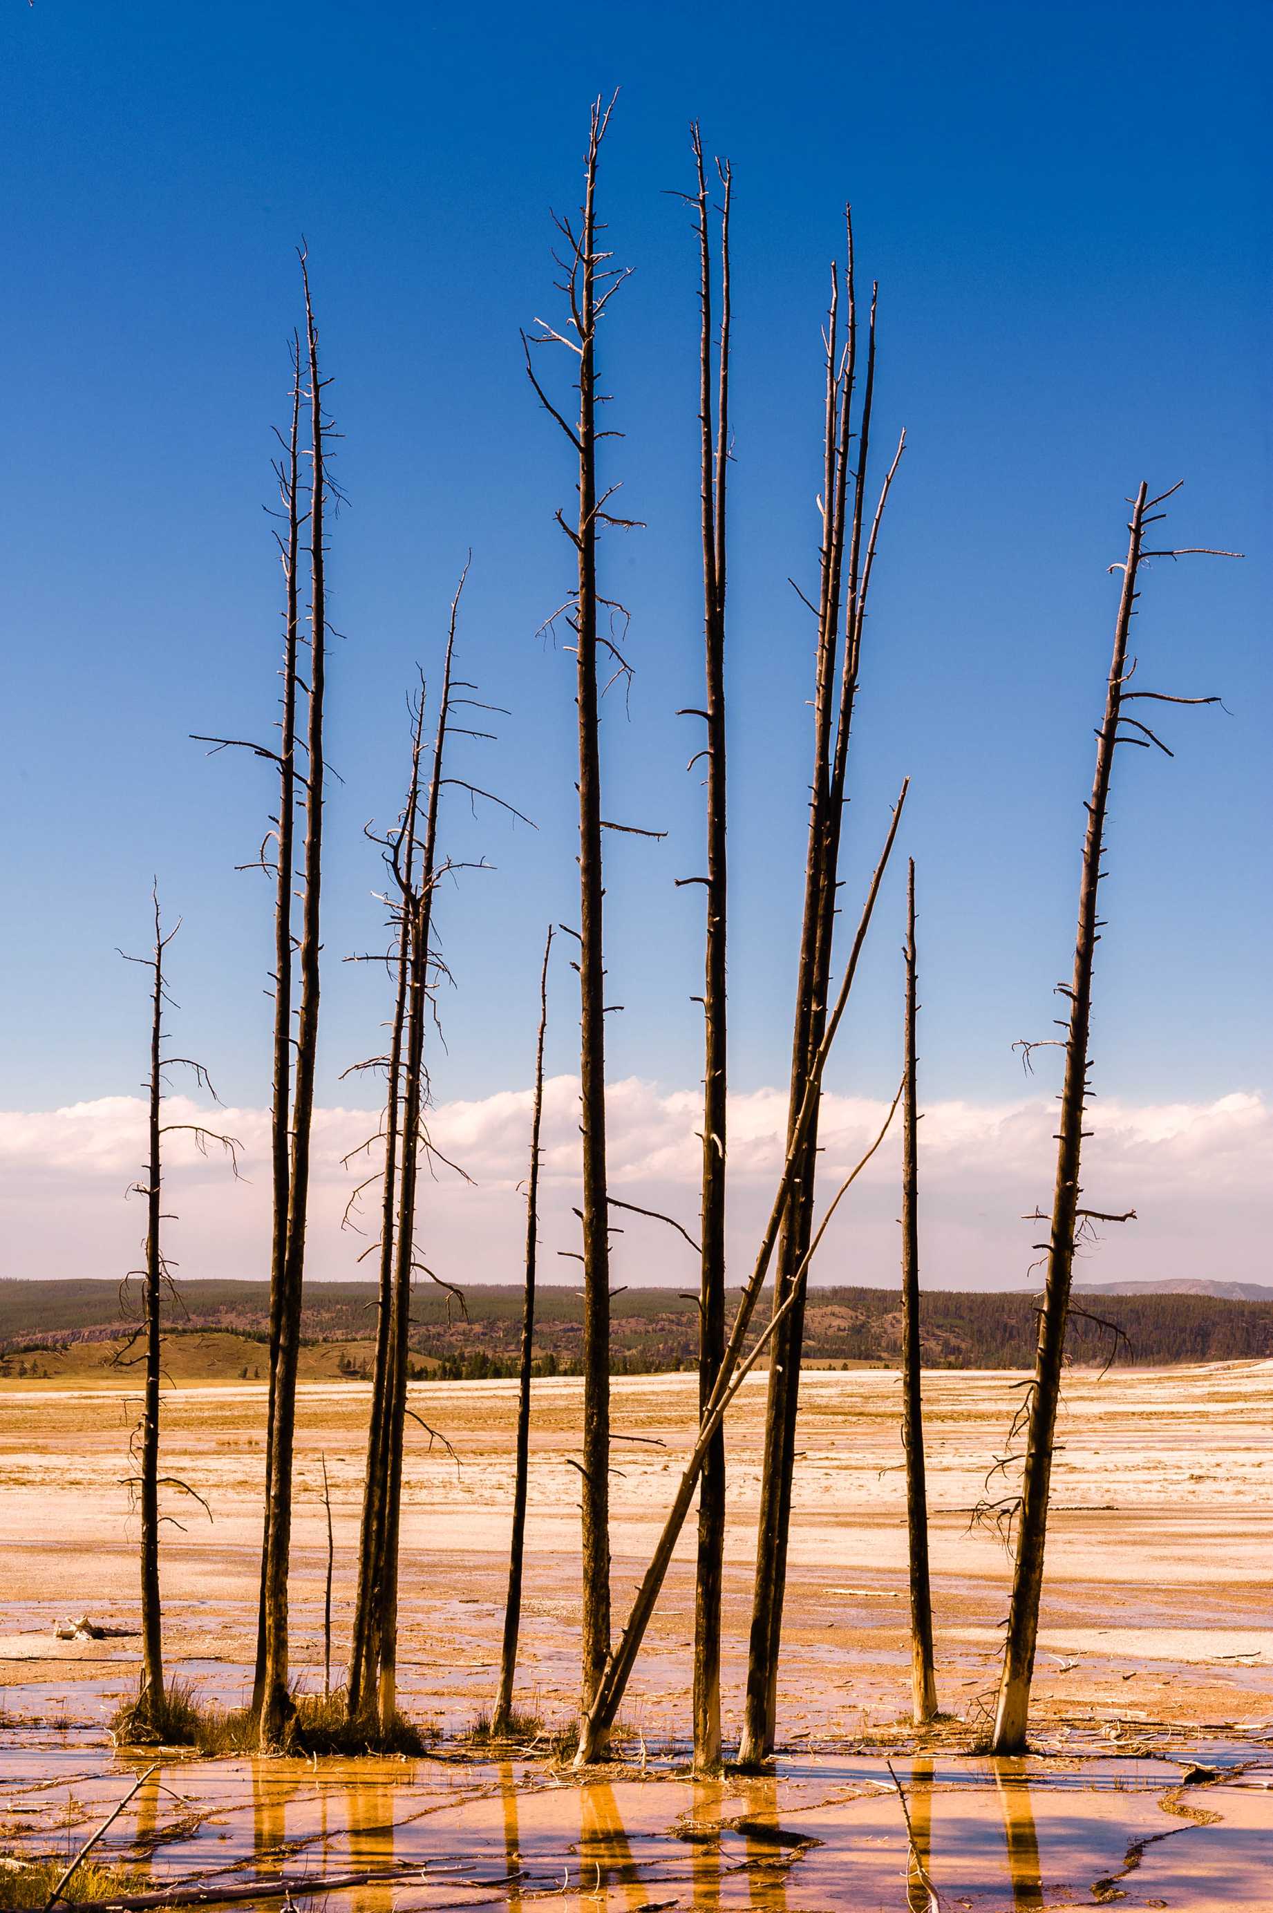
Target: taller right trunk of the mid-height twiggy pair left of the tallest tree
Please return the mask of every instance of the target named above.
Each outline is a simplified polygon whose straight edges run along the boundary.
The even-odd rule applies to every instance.
[[[465,566],[467,574],[467,566]],[[402,869],[402,935],[408,943],[406,987],[406,1052],[402,1064],[402,1155],[398,1165],[398,1224],[394,1243],[392,1318],[389,1330],[389,1416],[385,1437],[385,1509],[381,1561],[377,1576],[377,1708],[381,1731],[389,1731],[396,1712],[398,1682],[398,1530],[402,1523],[402,1452],[406,1437],[408,1347],[412,1326],[412,1274],[415,1268],[415,1192],[419,1178],[421,1113],[425,1106],[425,1025],[429,1020],[429,962],[433,939],[433,895],[438,878],[438,802],[442,796],[442,758],[452,704],[452,658],[456,652],[456,620],[459,589],[452,599],[446,660],[442,666],[442,694],[433,740],[433,771],[425,800],[425,830],[421,869],[415,880],[412,865]],[[412,781],[417,788],[419,748],[412,758]],[[412,819],[412,849],[413,849]]]

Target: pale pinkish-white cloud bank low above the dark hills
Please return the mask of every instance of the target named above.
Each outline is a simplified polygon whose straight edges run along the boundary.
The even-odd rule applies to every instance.
[[[823,1098],[821,1186],[829,1196],[879,1132],[884,1100]],[[214,1110],[184,1096],[170,1121],[205,1121],[243,1142],[243,1180],[224,1161],[199,1157],[190,1136],[168,1144],[168,1249],[182,1276],[268,1274],[268,1111]],[[607,1098],[611,1186],[645,1207],[697,1222],[697,1090],[660,1090],[637,1077]],[[750,1272],[758,1230],[773,1201],[787,1121],[785,1090],[729,1098],[731,1284]],[[921,1129],[923,1276],[932,1287],[1020,1287],[1039,1236],[1024,1215],[1047,1207],[1055,1104],[1032,1094],[1013,1104],[934,1102]],[[121,1276],[138,1263],[142,1203],[126,1198],[144,1155],[145,1104],[107,1096],[48,1111],[0,1111],[0,1215],[6,1276]],[[320,1110],[314,1119],[310,1276],[371,1276],[373,1192],[348,1224],[356,1184],[379,1167],[364,1110]],[[440,1152],[423,1186],[421,1253],[459,1282],[521,1282],[530,1090],[503,1090],[431,1111]],[[1137,1209],[1087,1253],[1091,1280],[1214,1276],[1262,1280],[1273,1224],[1267,1163],[1273,1110],[1258,1094],[1214,1102],[1101,1102],[1087,1144],[1083,1186],[1093,1207]],[[542,1247],[546,1282],[572,1282],[578,1264],[578,1079],[544,1090]],[[465,1182],[442,1161],[459,1165]],[[894,1132],[831,1224],[817,1282],[892,1286],[898,1276],[898,1163]],[[616,1213],[614,1278],[687,1287],[697,1259],[666,1226]]]

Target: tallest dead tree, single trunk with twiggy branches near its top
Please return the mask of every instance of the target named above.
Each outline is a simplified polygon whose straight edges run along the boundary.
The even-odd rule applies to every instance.
[[[597,220],[597,165],[611,111],[597,99],[588,132],[584,163],[584,203],[578,220],[555,216],[565,241],[559,258],[559,291],[567,300],[565,331],[542,319],[540,331],[523,333],[526,373],[536,396],[569,438],[578,463],[578,513],[574,526],[557,513],[557,524],[574,545],[576,583],[565,606],[574,633],[578,662],[578,821],[580,821],[580,1129],[584,1138],[584,1462],[582,1462],[582,1701],[590,1706],[605,1672],[611,1649],[611,1251],[605,1173],[605,958],[603,958],[603,882],[601,882],[601,763],[599,763],[599,683],[597,652],[614,662],[614,675],[630,668],[614,637],[599,629],[609,612],[611,629],[622,620],[622,606],[597,587],[597,532],[601,526],[630,528],[636,520],[607,511],[614,484],[597,490],[597,440],[614,436],[597,430],[597,406],[607,394],[597,390],[597,327],[609,300],[628,277],[613,268],[601,251],[603,226]],[[553,406],[532,365],[532,346],[563,344],[576,358],[576,423]]]

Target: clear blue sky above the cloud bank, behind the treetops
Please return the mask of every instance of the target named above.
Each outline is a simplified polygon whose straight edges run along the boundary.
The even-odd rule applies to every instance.
[[[1191,1100],[1269,1085],[1269,55],[1263,6],[796,13],[565,6],[101,8],[0,23],[6,297],[10,935],[4,1102],[130,1092],[151,872],[182,1048],[264,1100],[270,899],[251,859],[264,767],[191,731],[272,717],[278,574],[262,505],[310,264],[348,509],[333,528],[327,1102],[377,1046],[377,867],[398,802],[402,696],[433,671],[465,551],[465,675],[511,710],[467,761],[540,825],[452,807],[456,855],[498,867],[446,899],[458,989],[440,1096],[530,1071],[544,922],[574,920],[572,658],[536,629],[569,583],[570,492],[519,325],[551,310],[549,207],[576,197],[588,101],[622,86],[603,209],[636,268],[603,365],[624,505],[605,582],[632,608],[630,717],[605,715],[611,1069],[699,1075],[701,683],[695,254],[687,122],[735,168],[731,494],[733,1077],[785,1077],[804,853],[810,633],[787,576],[815,557],[819,321],[840,209],[881,279],[879,444],[907,427],[875,582],[852,771],[850,899],[913,779],[925,1085],[1020,1092],[1068,974],[1091,723],[1126,494],[1185,478],[1177,543],[1242,564],[1154,566],[1141,677],[1175,763],[1128,754],[1097,978],[1097,1085]],[[900,886],[888,890],[837,1085],[898,1067]],[[854,905],[856,909],[856,905]],[[549,1067],[569,1069],[572,976]]]

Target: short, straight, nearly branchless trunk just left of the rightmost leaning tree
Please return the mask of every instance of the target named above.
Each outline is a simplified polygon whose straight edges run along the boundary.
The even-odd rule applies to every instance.
[[[932,1668],[932,1592],[928,1586],[928,1488],[925,1481],[923,1345],[919,1339],[919,1087],[915,1031],[915,859],[905,886],[905,1094],[902,1102],[902,1446],[905,1450],[905,1527],[911,1563],[911,1718],[917,1727],[938,1710]]]

